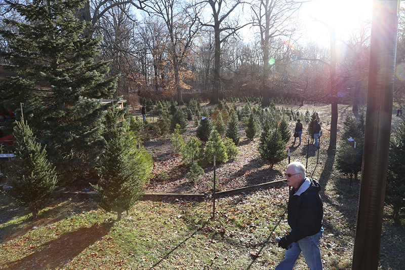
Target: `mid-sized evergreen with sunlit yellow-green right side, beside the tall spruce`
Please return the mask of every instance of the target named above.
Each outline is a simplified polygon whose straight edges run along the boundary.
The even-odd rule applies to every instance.
[[[135,137],[118,123],[118,113],[107,114],[105,152],[102,155],[100,180],[93,187],[97,202],[108,212],[117,212],[118,220],[143,195],[143,185],[152,170],[153,161],[147,151],[137,148]]]

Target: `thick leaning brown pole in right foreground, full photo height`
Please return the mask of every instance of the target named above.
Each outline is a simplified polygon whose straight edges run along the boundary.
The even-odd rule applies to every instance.
[[[395,79],[398,0],[374,0],[353,270],[378,269]]]

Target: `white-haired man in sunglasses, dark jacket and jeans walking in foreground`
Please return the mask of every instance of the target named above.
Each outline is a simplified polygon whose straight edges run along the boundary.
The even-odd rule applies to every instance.
[[[318,247],[323,232],[320,185],[305,176],[305,167],[300,162],[292,162],[287,166],[286,179],[292,187],[288,202],[288,224],[291,230],[278,242],[279,247],[286,249],[286,255],[275,269],[292,270],[302,252],[311,270],[322,270]]]

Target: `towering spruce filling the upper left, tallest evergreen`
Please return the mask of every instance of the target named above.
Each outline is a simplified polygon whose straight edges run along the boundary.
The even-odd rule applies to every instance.
[[[25,76],[0,81],[1,105],[18,111],[22,102],[62,180],[89,178],[103,145],[101,101],[112,96],[116,82],[106,79],[108,62],[95,62],[101,37],[84,37],[87,25],[75,18],[81,1],[8,4],[23,22],[4,19],[10,27],[0,35],[10,50],[0,55],[11,64],[7,69]]]

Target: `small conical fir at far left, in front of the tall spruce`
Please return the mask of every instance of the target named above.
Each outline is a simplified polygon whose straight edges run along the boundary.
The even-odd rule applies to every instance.
[[[35,142],[35,136],[23,118],[14,128],[14,137],[15,158],[9,162],[6,170],[13,188],[6,194],[20,206],[28,208],[36,219],[38,212],[50,201],[57,176],[47,160],[45,147]]]

